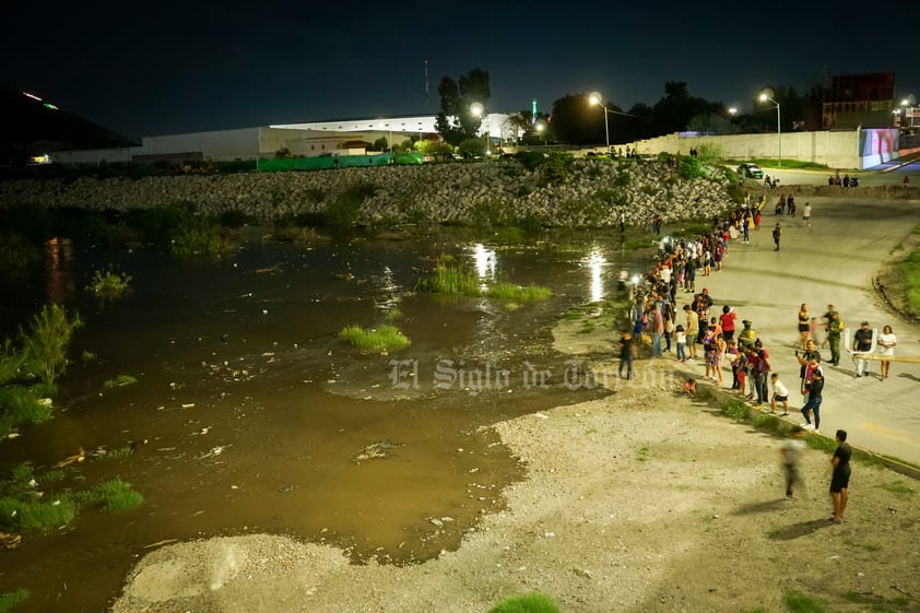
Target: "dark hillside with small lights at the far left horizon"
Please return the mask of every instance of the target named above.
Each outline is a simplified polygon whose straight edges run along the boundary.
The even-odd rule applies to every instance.
[[[0,85],[0,165],[25,164],[31,155],[71,149],[107,149],[137,143],[12,87]]]

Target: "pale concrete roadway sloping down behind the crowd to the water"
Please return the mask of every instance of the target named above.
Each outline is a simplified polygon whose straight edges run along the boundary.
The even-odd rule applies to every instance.
[[[790,390],[790,420],[802,423],[794,357],[802,303],[818,318],[828,304],[835,305],[851,331],[863,320],[877,331],[889,325],[898,339],[895,354],[920,356],[920,328],[892,315],[872,286],[882,262],[920,224],[920,202],[810,198],[812,227],[802,227],[804,199],[797,198],[798,216],[779,219],[785,232],[777,252],[770,232],[778,221],[774,214],[778,196],[770,194],[760,229],[751,233],[751,244],[733,240],[722,272],[697,275],[696,288],[709,288],[716,302],[713,313],[721,314],[722,305],[735,307],[739,329],[742,319],[753,321],[774,370]],[[686,300],[679,302],[682,308]],[[827,349],[821,354],[829,362]],[[857,447],[920,464],[920,364],[892,363],[888,379],[882,380],[880,363],[870,362],[872,376],[856,379],[856,365],[846,347],[841,346],[841,354],[839,367],[824,366],[821,432],[833,437],[837,428],[844,428]],[[701,378],[703,364],[697,364],[693,372]]]

